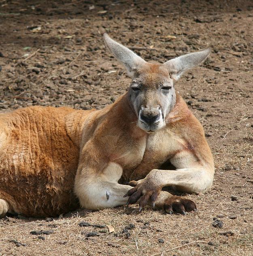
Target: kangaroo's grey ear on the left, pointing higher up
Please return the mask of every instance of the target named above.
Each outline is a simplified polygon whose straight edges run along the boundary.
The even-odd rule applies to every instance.
[[[136,75],[137,69],[144,65],[146,61],[127,47],[111,39],[108,34],[104,33],[103,37],[104,42],[111,53],[117,58],[117,60],[123,63],[128,71],[128,75],[133,78]]]

